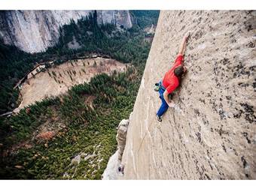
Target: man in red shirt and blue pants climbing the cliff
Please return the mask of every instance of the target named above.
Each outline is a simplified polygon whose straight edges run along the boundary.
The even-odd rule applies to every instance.
[[[186,68],[183,66],[183,55],[185,44],[187,42],[187,37],[189,37],[190,32],[187,31],[187,34],[183,37],[181,46],[178,49],[178,55],[175,59],[174,65],[172,68],[166,72],[163,77],[163,80],[160,83],[155,84],[155,91],[158,91],[160,94],[160,99],[162,101],[160,109],[157,111],[157,120],[162,121],[162,115],[166,112],[169,107],[175,107],[175,104],[172,100],[169,100],[169,95],[172,96],[172,92],[178,87],[179,80],[186,72]]]

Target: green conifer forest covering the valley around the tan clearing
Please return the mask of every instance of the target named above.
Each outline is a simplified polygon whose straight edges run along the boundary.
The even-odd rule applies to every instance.
[[[102,53],[133,66],[125,73],[97,75],[65,95],[36,102],[17,115],[0,117],[0,178],[101,178],[117,148],[116,127],[133,111],[148,58],[151,43],[145,40],[144,28],[157,23],[159,11],[144,12],[131,11],[138,19],[130,29],[98,25],[96,13],[78,23],[71,21],[59,28],[56,46],[33,55],[1,43],[0,113],[17,106],[19,92],[13,86],[35,62],[54,59],[60,64],[63,59]],[[74,40],[78,49],[69,48]],[[45,127],[51,131],[50,139],[38,137]]]

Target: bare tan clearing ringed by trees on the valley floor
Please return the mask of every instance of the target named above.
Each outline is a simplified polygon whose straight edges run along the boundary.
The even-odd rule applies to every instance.
[[[34,77],[26,80],[20,91],[20,106],[14,110],[19,112],[23,107],[41,101],[44,98],[57,96],[67,92],[72,86],[90,82],[96,74],[111,74],[113,71],[126,71],[127,64],[111,58],[85,58],[70,60],[49,68],[47,71],[34,73]]]

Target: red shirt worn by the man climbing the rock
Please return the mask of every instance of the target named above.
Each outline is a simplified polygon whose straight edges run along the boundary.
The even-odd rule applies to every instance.
[[[179,85],[178,77],[176,77],[174,74],[174,69],[180,66],[182,64],[182,61],[183,55],[178,55],[172,68],[167,71],[163,77],[163,87],[169,94],[173,92]]]

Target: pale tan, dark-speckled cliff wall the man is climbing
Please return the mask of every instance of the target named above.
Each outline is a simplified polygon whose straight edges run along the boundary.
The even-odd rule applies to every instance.
[[[161,11],[123,152],[125,179],[256,178],[255,11]],[[188,73],[158,122],[154,92],[186,31]]]

